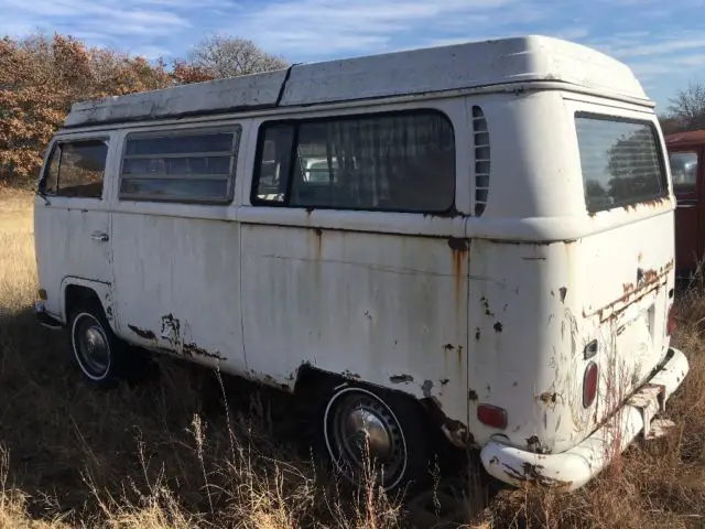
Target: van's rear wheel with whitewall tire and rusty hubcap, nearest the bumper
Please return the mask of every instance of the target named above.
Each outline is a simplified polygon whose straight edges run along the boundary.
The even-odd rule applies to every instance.
[[[347,482],[359,487],[372,481],[389,493],[427,481],[431,435],[411,397],[348,384],[326,397],[318,419],[323,441]]]

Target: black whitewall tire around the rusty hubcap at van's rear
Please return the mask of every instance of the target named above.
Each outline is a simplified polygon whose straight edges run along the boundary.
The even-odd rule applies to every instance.
[[[369,484],[366,479],[366,467],[369,472],[373,466],[378,472],[373,477],[376,485],[386,493],[411,493],[426,485],[432,477],[431,468],[431,438],[429,423],[420,403],[412,397],[372,388],[350,381],[326,380],[315,392],[318,406],[313,407],[313,425],[316,451],[324,455],[333,466],[336,476],[341,476],[352,487],[364,487]],[[352,415],[355,413],[355,415]],[[372,449],[367,458],[360,453],[358,443],[345,443],[341,435],[346,432],[351,420],[367,417],[368,424],[377,424],[377,438],[371,439],[368,446],[376,443],[383,446],[384,440],[389,450],[378,450],[375,456]],[[380,430],[380,424],[382,429]],[[382,432],[383,434],[380,434]],[[370,432],[367,429],[367,432]],[[372,431],[375,434],[375,431]],[[358,429],[357,439],[361,440],[364,431]],[[369,435],[369,433],[368,433]],[[383,440],[380,442],[380,439]],[[356,444],[351,447],[350,444]],[[384,454],[383,452],[387,452]],[[371,463],[371,465],[370,465]]]

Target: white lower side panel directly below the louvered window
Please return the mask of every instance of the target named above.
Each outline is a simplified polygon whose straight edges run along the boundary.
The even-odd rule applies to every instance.
[[[226,373],[243,373],[238,224],[154,213],[113,215],[119,334],[212,367],[218,364]]]

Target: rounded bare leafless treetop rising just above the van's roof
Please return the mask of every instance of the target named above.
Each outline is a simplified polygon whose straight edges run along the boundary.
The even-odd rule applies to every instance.
[[[252,41],[213,35],[188,54],[188,64],[216,78],[257,74],[288,66],[282,58],[259,48]]]

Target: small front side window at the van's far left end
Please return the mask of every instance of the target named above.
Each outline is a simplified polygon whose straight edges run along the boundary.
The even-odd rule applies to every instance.
[[[108,143],[79,140],[57,143],[42,184],[47,195],[101,198]]]

